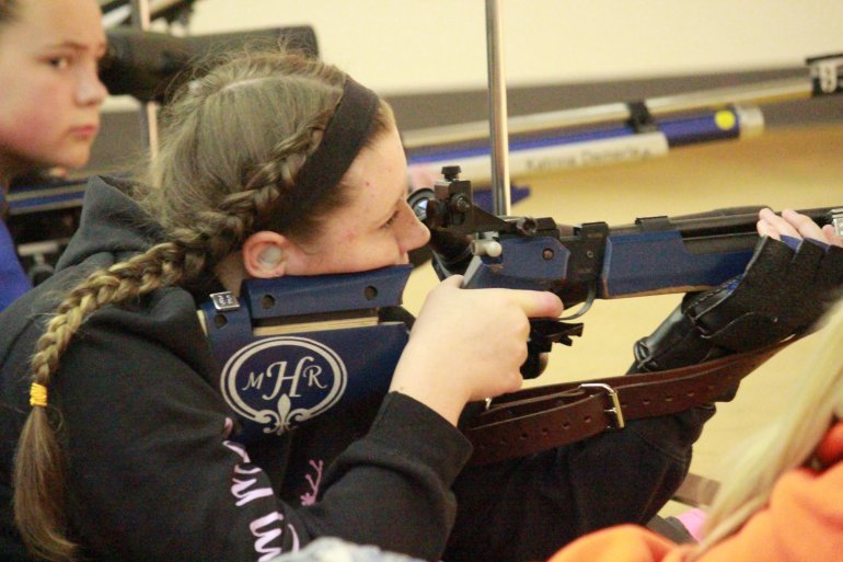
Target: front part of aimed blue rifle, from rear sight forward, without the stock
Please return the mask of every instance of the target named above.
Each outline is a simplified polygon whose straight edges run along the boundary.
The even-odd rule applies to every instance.
[[[762,208],[738,207],[634,223],[558,225],[550,217],[498,217],[473,203],[460,167],[408,199],[430,229],[440,277],[465,275],[469,288],[551,290],[566,307],[686,293],[717,286],[743,272],[758,241]],[[843,228],[843,206],[806,209],[820,226]],[[585,311],[582,311],[585,312]]]

